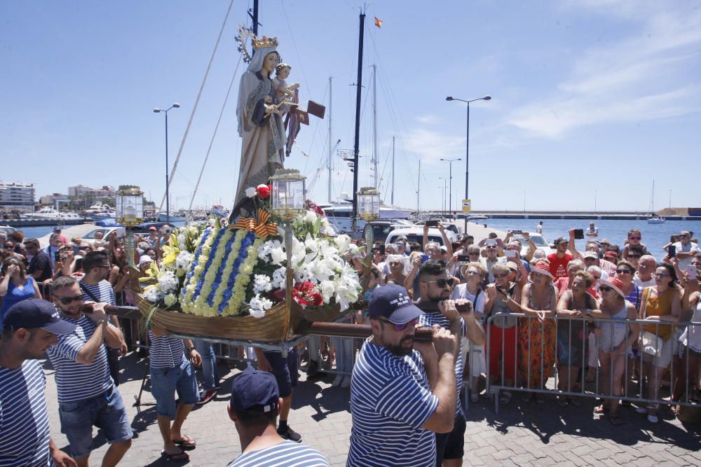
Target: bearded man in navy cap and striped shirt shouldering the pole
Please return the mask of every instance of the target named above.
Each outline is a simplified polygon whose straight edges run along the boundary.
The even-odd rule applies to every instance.
[[[443,300],[439,307],[451,325],[433,326],[433,343],[415,346],[423,312],[407,289],[388,284],[372,294],[372,336],[360,349],[351,381],[348,466],[435,466],[435,433],[449,433],[455,421],[461,335],[454,302]]]

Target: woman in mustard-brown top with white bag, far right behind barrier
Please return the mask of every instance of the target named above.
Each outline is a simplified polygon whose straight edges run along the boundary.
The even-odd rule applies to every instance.
[[[649,399],[658,399],[662,373],[672,361],[672,337],[675,335],[672,323],[678,323],[681,316],[681,291],[676,286],[676,272],[672,265],[659,264],[655,269],[655,285],[643,289],[640,315],[645,321],[651,321],[644,326],[648,340],[655,344],[662,340],[661,346],[655,345],[654,355],[643,353],[642,379],[646,382],[646,395]],[[644,349],[642,342],[639,345]],[[658,404],[648,404],[647,407],[638,407],[636,412],[647,412],[648,421],[657,423],[657,410]]]

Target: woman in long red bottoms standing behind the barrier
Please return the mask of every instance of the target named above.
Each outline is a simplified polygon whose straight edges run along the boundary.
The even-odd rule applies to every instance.
[[[518,319],[517,316],[510,316],[510,314],[521,312],[521,306],[515,300],[515,298],[521,296],[521,288],[518,284],[509,282],[510,272],[506,265],[496,263],[492,266],[491,272],[494,274],[494,283],[489,284],[484,289],[486,295],[484,314],[487,319],[489,319],[489,316],[494,316],[489,326],[491,336],[489,375],[493,382],[501,377],[501,384],[514,386],[516,379],[516,324]],[[511,392],[501,391],[499,403],[508,404],[510,401]]]

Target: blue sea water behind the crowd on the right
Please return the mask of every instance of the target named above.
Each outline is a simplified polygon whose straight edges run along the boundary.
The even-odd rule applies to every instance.
[[[488,228],[493,227],[504,231],[517,229],[524,232],[536,232],[536,225],[540,221],[543,221],[543,236],[548,242],[552,242],[557,237],[569,238],[569,230],[571,228],[587,230],[590,223],[588,219],[542,219],[537,217],[528,219],[488,218],[474,222],[482,225],[486,224]],[[643,237],[641,242],[658,259],[665,256],[666,253],[662,250],[662,246],[669,242],[671,235],[679,235],[681,230],[695,231],[696,233],[693,233],[692,237],[701,235],[701,221],[666,221],[662,224],[648,224],[647,221],[635,219],[625,221],[601,219],[600,221],[594,221],[594,225],[599,229],[599,236],[593,237],[593,239],[599,241],[608,239],[611,244],[620,246],[620,249],[623,249],[625,245],[628,230],[633,228],[640,230]],[[576,241],[578,251],[584,251],[586,242],[587,239]]]

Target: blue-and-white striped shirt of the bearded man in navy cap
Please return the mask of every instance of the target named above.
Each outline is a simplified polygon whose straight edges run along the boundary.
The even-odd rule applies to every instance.
[[[435,466],[433,431],[421,428],[438,407],[418,351],[396,356],[370,342],[351,383],[348,466]]]

